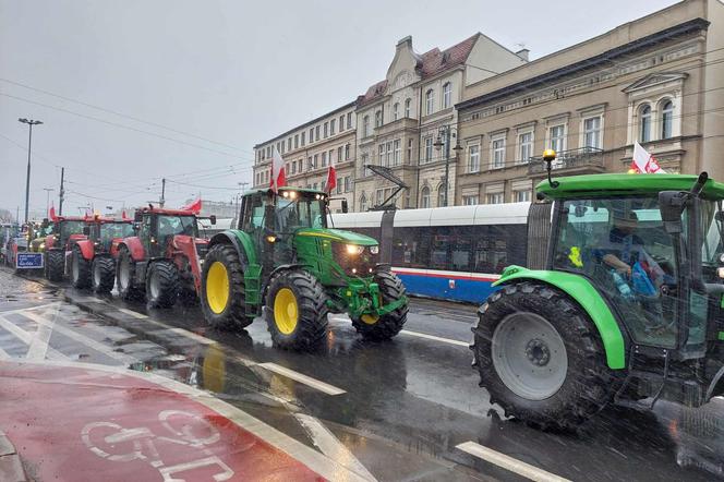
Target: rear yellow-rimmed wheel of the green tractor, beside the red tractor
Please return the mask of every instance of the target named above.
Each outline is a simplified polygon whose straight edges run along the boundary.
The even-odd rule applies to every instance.
[[[212,279],[209,272],[224,279]],[[221,269],[222,267],[222,269]],[[237,249],[231,244],[216,244],[204,258],[201,275],[201,309],[204,318],[214,328],[241,329],[251,325],[253,317],[246,316],[244,270]]]

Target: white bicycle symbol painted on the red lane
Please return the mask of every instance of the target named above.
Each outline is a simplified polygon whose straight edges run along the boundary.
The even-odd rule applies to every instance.
[[[214,425],[198,415],[181,410],[164,410],[158,414],[158,420],[173,436],[158,436],[144,426],[124,429],[112,422],[93,422],[83,427],[81,438],[92,453],[107,460],[147,461],[158,469],[165,482],[185,482],[185,479],[174,478],[173,474],[212,466],[220,468],[220,472],[213,475],[215,481],[231,479],[233,470],[206,448],[221,438]],[[200,448],[206,457],[176,466],[165,466],[155,444],[159,441]]]

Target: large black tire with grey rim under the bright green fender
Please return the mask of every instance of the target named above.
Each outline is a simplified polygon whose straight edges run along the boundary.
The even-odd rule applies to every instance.
[[[506,417],[567,431],[611,401],[620,378],[606,365],[588,314],[564,292],[531,281],[506,285],[478,314],[473,365]]]

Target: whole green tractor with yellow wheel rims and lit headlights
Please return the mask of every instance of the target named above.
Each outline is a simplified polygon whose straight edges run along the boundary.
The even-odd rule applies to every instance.
[[[243,328],[264,314],[274,344],[295,350],[324,341],[328,313],[349,314],[369,339],[402,329],[402,282],[379,264],[377,241],[327,228],[328,202],[305,189],[244,194],[239,229],[212,238],[204,260],[201,301],[212,326]]]

